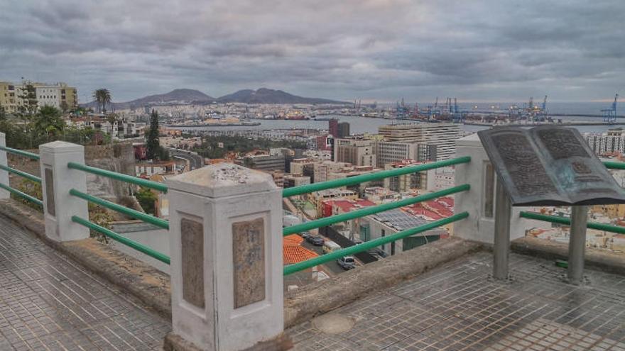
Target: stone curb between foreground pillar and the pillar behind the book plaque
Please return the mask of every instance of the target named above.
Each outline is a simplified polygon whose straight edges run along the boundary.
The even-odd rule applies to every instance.
[[[442,263],[482,250],[479,243],[446,238],[369,263],[338,277],[303,286],[284,296],[284,328],[308,321],[371,292],[411,279]]]

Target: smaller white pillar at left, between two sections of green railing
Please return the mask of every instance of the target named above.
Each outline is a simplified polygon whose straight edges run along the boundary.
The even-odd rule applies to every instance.
[[[72,222],[72,216],[89,218],[87,201],[70,195],[70,189],[87,191],[85,172],[67,162],[85,164],[85,147],[64,141],[39,145],[45,235],[55,241],[89,238],[89,229]]]

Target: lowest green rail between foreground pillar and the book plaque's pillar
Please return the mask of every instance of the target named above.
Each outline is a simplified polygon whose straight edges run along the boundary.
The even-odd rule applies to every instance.
[[[315,267],[317,264],[322,264],[325,262],[338,260],[339,258],[344,257],[344,256],[354,255],[359,252],[371,250],[374,247],[378,247],[387,243],[391,243],[393,241],[400,240],[400,239],[409,237],[411,235],[423,233],[425,231],[440,227],[441,225],[446,225],[449,223],[454,223],[455,221],[460,221],[461,219],[467,218],[468,216],[469,216],[469,213],[467,212],[457,213],[453,216],[443,218],[438,221],[434,221],[434,222],[427,223],[424,225],[419,225],[418,227],[411,228],[408,230],[402,230],[401,232],[395,233],[393,235],[388,235],[382,238],[377,238],[374,240],[367,241],[366,243],[350,246],[341,250],[336,250],[326,255],[322,255],[319,257],[312,258],[310,260],[306,260],[304,262],[289,264],[288,266],[284,267],[283,274],[284,275],[292,274],[295,272],[299,272],[303,269]]]

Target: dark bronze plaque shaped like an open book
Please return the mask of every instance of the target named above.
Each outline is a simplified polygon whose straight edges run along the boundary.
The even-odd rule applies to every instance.
[[[625,191],[580,132],[562,126],[477,133],[513,206],[625,204]]]

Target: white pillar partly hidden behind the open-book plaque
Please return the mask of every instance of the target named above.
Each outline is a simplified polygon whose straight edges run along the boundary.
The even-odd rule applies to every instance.
[[[477,134],[456,141],[456,157],[470,156],[471,162],[455,165],[455,184],[469,184],[469,191],[455,194],[455,213],[467,211],[469,217],[455,223],[454,235],[492,245],[495,233],[495,189],[497,175]],[[510,240],[522,238],[526,230],[544,227],[544,222],[521,218],[528,207],[513,207],[510,218]]]

